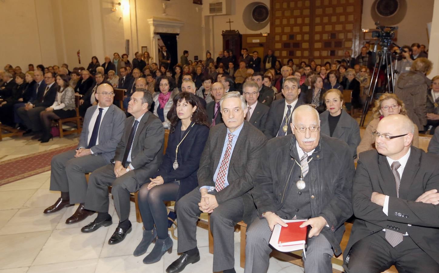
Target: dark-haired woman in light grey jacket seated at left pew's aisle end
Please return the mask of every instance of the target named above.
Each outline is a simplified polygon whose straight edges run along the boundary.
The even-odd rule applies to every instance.
[[[41,143],[49,142],[53,138],[50,133],[50,122],[53,119],[67,119],[76,115],[75,110],[75,91],[68,84],[67,75],[61,74],[56,76],[58,83],[58,92],[54,103],[46,108],[46,111],[40,112],[40,120],[43,124],[43,136]],[[59,128],[62,130],[62,128]]]

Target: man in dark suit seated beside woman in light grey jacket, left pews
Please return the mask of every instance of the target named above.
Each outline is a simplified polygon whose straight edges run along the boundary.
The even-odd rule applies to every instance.
[[[44,81],[46,82],[46,88],[44,90],[39,90],[37,99],[17,110],[18,116],[22,119],[22,122],[27,128],[25,132],[26,134],[41,131],[42,124],[40,120],[40,112],[45,111],[46,108],[50,107],[55,101],[59,86],[55,83],[55,78],[52,73],[47,72],[44,74]]]

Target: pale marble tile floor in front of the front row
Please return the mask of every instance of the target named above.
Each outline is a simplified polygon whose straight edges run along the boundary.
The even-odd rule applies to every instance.
[[[56,137],[46,144],[30,140],[30,137],[7,138],[0,141],[0,161],[76,142],[77,136]],[[4,171],[7,170],[2,170],[0,166],[0,172]],[[162,273],[177,259],[175,240],[174,251],[166,253],[155,264],[145,265],[142,262],[146,254],[140,257],[132,255],[142,236],[142,225],[136,222],[134,203],[131,203],[130,214],[133,231],[115,245],[107,243],[119,222],[112,199],[110,214],[115,224],[101,227],[94,233],[81,233],[80,229],[95,216],[77,224],[65,224],[77,206],[50,215],[43,214],[44,208],[59,197],[59,192],[49,190],[49,184],[50,172],[44,172],[0,186],[0,273]],[[239,266],[240,234],[234,235],[235,269],[244,272]],[[207,230],[198,227],[197,240],[201,261],[188,265],[184,272],[212,272],[213,255],[209,253]],[[148,252],[152,248],[151,245]],[[299,273],[303,272],[303,268],[272,257],[268,272]]]

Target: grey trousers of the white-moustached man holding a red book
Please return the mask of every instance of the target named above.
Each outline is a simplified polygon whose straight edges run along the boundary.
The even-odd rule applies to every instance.
[[[255,218],[247,230],[245,245],[245,271],[248,273],[265,273],[268,269],[272,248],[268,244],[271,230],[265,218]],[[180,240],[180,238],[179,238]],[[305,272],[332,273],[331,258],[334,255],[331,244],[320,235],[308,238]]]

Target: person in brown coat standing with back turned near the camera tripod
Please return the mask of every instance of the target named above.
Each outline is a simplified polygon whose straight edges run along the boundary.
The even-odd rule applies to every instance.
[[[414,60],[410,71],[399,75],[395,94],[404,102],[407,116],[416,126],[424,130],[427,125],[427,108],[425,106],[428,88],[432,81],[425,74],[433,67],[431,61],[421,57]]]

